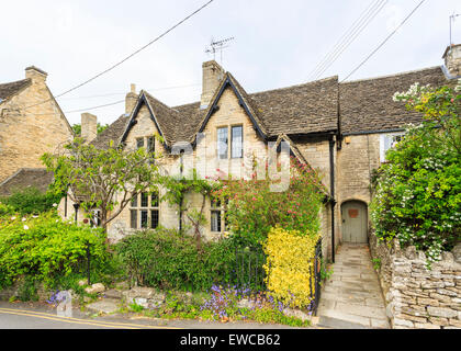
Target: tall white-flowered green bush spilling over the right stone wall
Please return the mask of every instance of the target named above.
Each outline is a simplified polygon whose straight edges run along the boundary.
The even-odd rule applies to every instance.
[[[423,114],[378,170],[371,218],[375,235],[424,251],[428,263],[461,239],[461,80],[456,88],[414,84],[395,101]]]

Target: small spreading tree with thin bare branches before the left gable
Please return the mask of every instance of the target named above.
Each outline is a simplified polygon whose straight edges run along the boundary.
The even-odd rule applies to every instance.
[[[67,192],[87,213],[99,210],[104,230],[134,196],[155,191],[150,186],[157,181],[158,167],[155,155],[145,148],[128,150],[111,143],[99,149],[76,138],[65,149],[63,155],[42,156],[55,174],[53,189]]]

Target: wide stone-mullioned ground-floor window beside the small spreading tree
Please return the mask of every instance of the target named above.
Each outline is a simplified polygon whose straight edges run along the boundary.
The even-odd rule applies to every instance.
[[[157,228],[159,224],[159,197],[156,190],[149,196],[140,193],[133,197],[130,210],[130,225],[132,229]]]

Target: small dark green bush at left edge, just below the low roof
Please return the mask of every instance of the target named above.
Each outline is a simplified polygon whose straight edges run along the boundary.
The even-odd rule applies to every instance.
[[[26,188],[12,193],[10,196],[0,199],[1,202],[10,207],[11,212],[21,215],[38,214],[53,208],[53,204],[58,204],[63,196],[52,192],[43,193],[36,188]],[[5,208],[0,207],[0,215]]]

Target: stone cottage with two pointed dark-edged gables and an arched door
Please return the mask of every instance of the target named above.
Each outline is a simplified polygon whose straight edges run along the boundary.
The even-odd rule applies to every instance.
[[[168,155],[162,166],[169,170],[180,158],[172,151],[191,145],[199,171],[207,166],[204,160],[217,159],[212,163],[214,169],[224,162],[233,173],[234,168],[248,161],[248,150],[265,157],[269,143],[289,141],[291,154],[318,169],[329,191],[330,201],[322,212],[323,248],[324,254],[334,259],[333,248],[341,241],[368,242],[372,171],[385,161],[385,151],[404,133],[404,126],[421,121],[419,114],[394,102],[393,94],[415,82],[441,86],[457,78],[459,48],[447,49],[445,66],[345,83],[335,76],[256,93],[248,93],[216,61],[207,61],[202,67],[200,101],[167,106],[147,91],[136,94],[132,87],[125,114],[92,143],[103,148],[113,140],[127,148],[145,146],[161,151]],[[165,141],[153,138],[154,134]],[[206,140],[203,152],[202,140]],[[193,204],[199,200],[189,201]],[[71,205],[63,201],[60,213],[74,217]],[[222,208],[209,202],[205,214],[209,224],[203,234],[220,237],[225,229]],[[76,215],[82,218],[80,213]],[[140,195],[110,224],[108,235],[117,240],[157,225],[178,228],[178,210],[157,197]]]

